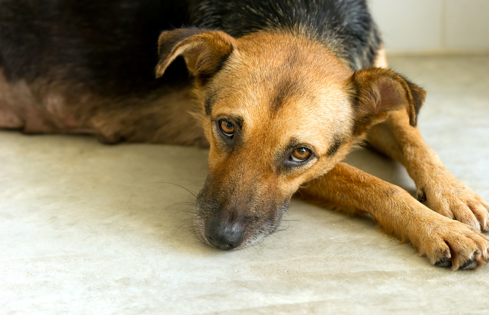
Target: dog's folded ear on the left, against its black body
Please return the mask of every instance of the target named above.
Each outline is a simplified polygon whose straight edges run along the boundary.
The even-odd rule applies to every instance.
[[[165,31],[158,39],[156,78],[163,75],[173,60],[183,56],[187,68],[203,84],[219,71],[235,46],[236,39],[222,31],[199,28]]]

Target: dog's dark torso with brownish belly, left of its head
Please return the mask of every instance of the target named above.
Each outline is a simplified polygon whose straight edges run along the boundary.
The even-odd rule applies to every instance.
[[[173,118],[166,104],[181,108],[173,116],[191,109],[181,101],[189,84],[183,60],[163,78],[154,75],[157,37],[188,23],[184,6],[0,0],[0,127],[93,133],[105,142],[204,144],[195,130],[160,130]]]

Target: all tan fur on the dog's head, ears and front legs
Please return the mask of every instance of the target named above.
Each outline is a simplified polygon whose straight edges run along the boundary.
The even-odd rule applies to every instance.
[[[479,233],[481,224],[488,227],[487,205],[453,178],[422,141],[413,126],[424,91],[385,70],[383,50],[378,52],[377,68],[353,73],[324,46],[300,34],[257,32],[229,39],[209,32],[178,38],[173,50],[161,40],[178,36],[164,32],[160,38],[160,49],[163,45],[164,51],[171,51],[161,56],[163,70],[167,60],[183,54],[199,78],[196,62],[208,72],[215,62],[202,60],[213,60],[209,56],[217,58],[215,54],[226,59],[222,70],[216,70],[205,84],[197,83],[195,89],[200,121],[210,143],[209,176],[200,193],[201,202],[223,204],[222,220],[232,223],[240,216],[267,215],[264,206],[257,204],[288,201],[301,183],[308,182],[300,189],[308,199],[348,213],[373,215],[387,233],[410,241],[431,263],[449,257],[452,268],[458,269],[465,268],[469,259],[476,259],[478,266],[487,262],[489,241]],[[281,89],[287,98],[277,96]],[[210,98],[212,105],[206,105]],[[277,98],[281,102],[274,105]],[[236,147],[221,140],[216,121],[222,118],[243,119]],[[338,137],[341,145],[330,156],[328,150]],[[402,162],[420,191],[433,200],[428,206],[445,217],[400,187],[340,163],[364,138]],[[307,166],[284,172],[277,155],[290,139],[314,148],[315,156]],[[447,209],[473,228],[450,219],[453,215]],[[222,212],[207,209],[196,217],[203,240],[205,221],[213,211]],[[247,227],[252,237],[243,244],[260,239],[264,226]]]

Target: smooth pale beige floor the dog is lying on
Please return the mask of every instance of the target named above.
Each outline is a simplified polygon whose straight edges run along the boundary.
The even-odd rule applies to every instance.
[[[489,200],[489,56],[396,57],[427,91],[419,121]],[[433,267],[370,218],[291,201],[282,230],[225,252],[194,238],[207,151],[0,131],[0,314],[489,314],[489,266]],[[348,162],[409,192],[405,170]],[[169,207],[170,206],[170,207]]]

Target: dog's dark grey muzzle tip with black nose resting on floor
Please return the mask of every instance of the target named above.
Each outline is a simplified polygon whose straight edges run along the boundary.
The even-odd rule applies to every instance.
[[[239,213],[226,211],[225,207],[216,208],[215,205],[208,200],[202,202],[198,197],[195,229],[203,243],[223,250],[244,248],[263,241],[277,230],[289,208],[289,202],[284,202],[271,210],[257,211],[249,206],[248,211]]]

